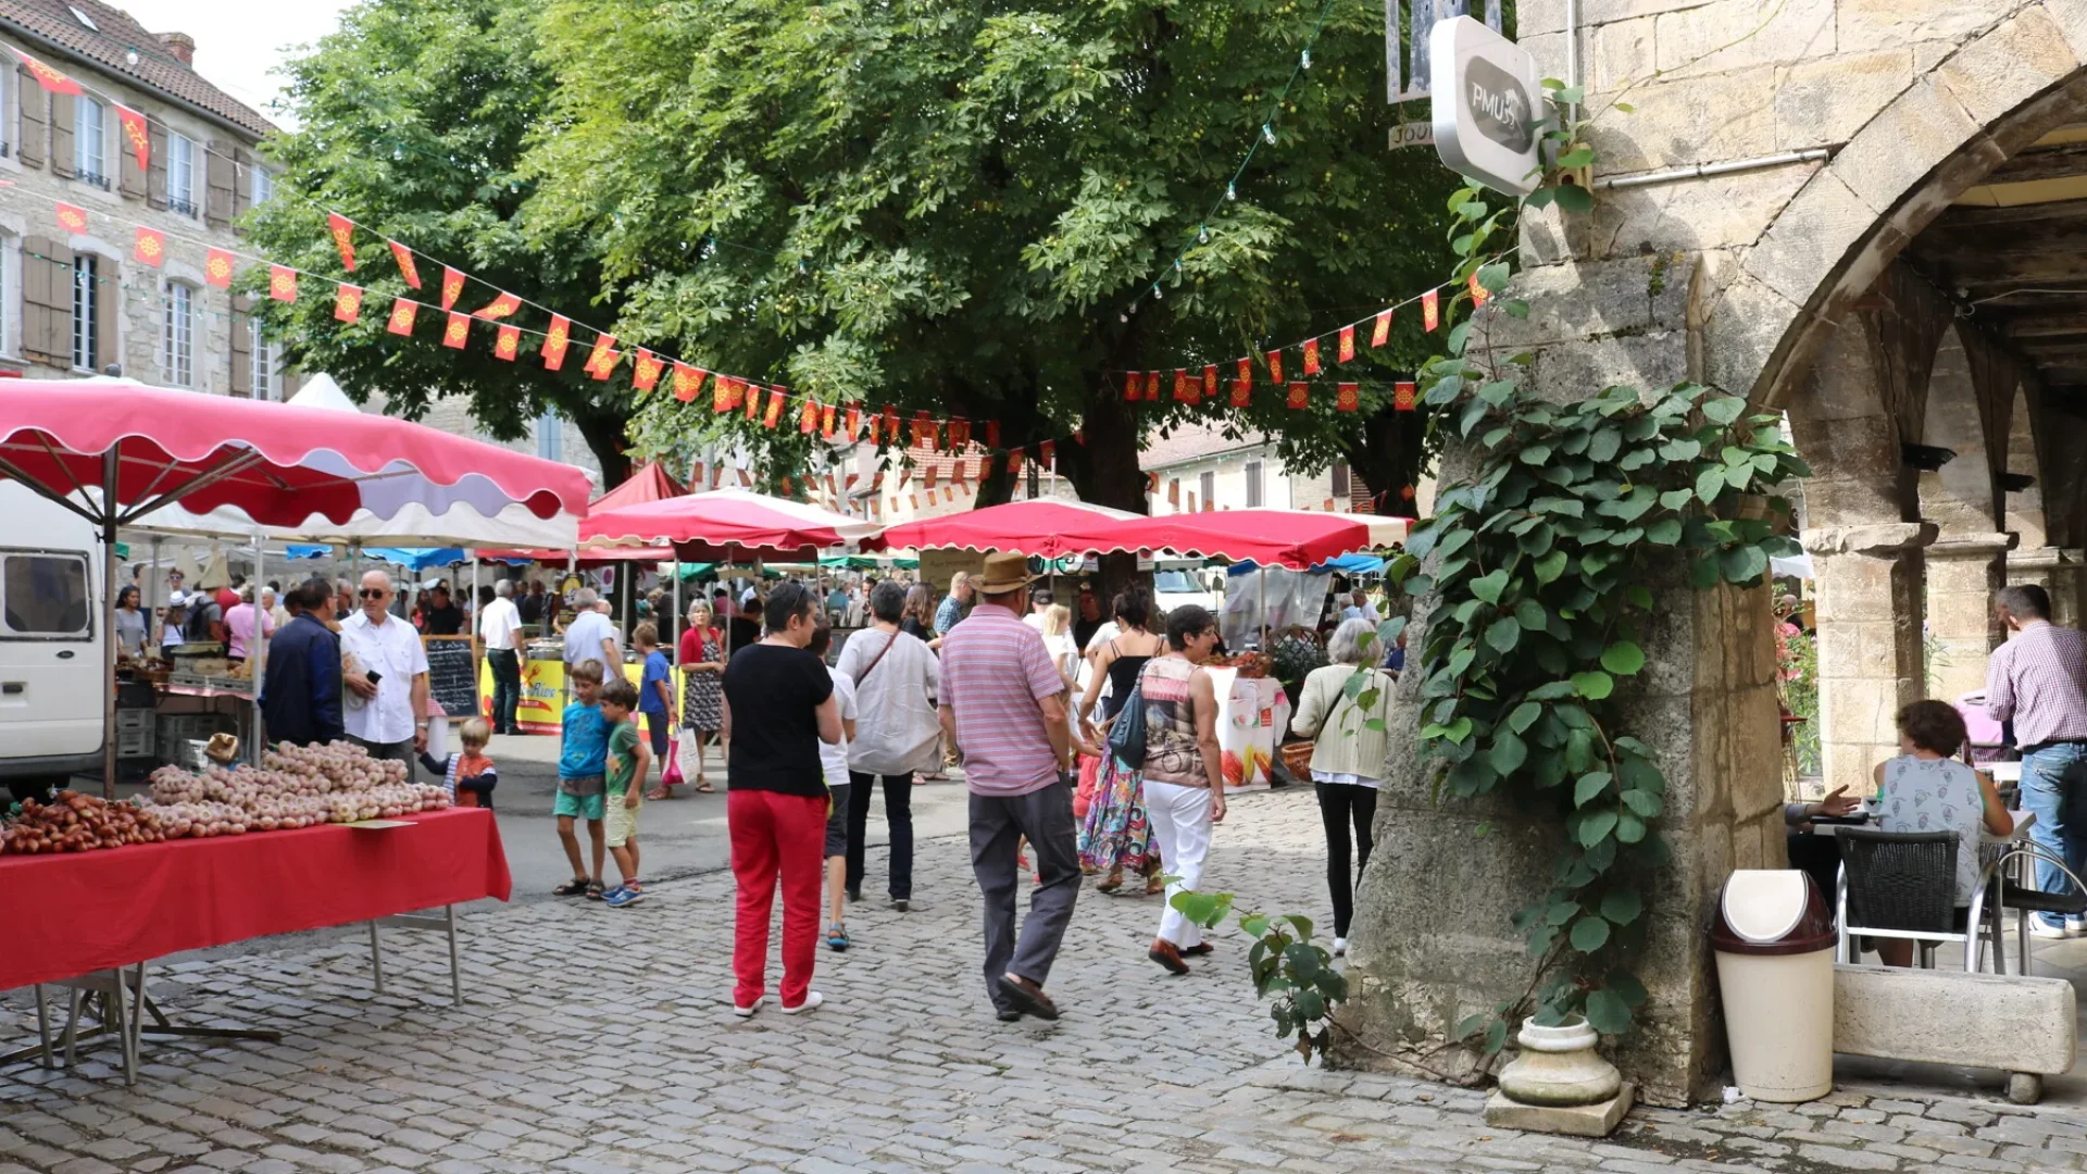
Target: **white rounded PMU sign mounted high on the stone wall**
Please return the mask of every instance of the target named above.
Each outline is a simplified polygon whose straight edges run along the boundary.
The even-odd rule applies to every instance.
[[[1436,21],[1428,38],[1436,86],[1436,152],[1453,171],[1526,196],[1536,190],[1536,123],[1542,79],[1536,58],[1473,21]]]

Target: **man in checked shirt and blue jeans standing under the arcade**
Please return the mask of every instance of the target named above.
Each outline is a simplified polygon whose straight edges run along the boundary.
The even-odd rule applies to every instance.
[[[2043,587],[2004,587],[1993,614],[2008,625],[2008,643],[1985,671],[1985,708],[2014,723],[2022,750],[2022,808],[2037,817],[2029,833],[2074,873],[2087,859],[2087,635],[2052,623]],[[2037,861],[2037,888],[2066,892],[2072,884],[2056,865]],[[2064,938],[2087,921],[2029,919],[2039,938]]]

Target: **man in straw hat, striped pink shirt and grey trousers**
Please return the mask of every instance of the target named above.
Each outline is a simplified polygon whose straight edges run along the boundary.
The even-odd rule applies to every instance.
[[[1079,898],[1064,677],[1021,618],[1023,589],[1035,579],[1021,554],[987,556],[975,581],[981,604],[941,645],[941,729],[964,754],[970,869],[985,894],[985,992],[1002,1022],[1058,1017],[1044,982]],[[1041,879],[1016,938],[1025,836]]]

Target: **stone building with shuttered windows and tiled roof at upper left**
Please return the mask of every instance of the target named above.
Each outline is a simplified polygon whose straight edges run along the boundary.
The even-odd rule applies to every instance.
[[[0,0],[0,44],[83,88],[46,92],[0,56],[0,368],[292,393],[246,301],[205,280],[207,251],[240,249],[232,221],[273,190],[257,159],[267,119],[192,69],[188,36],[96,0]],[[123,142],[117,104],[148,119],[150,167]],[[61,226],[56,203],[83,209],[86,230]],[[165,234],[161,265],[136,259],[138,228]]]

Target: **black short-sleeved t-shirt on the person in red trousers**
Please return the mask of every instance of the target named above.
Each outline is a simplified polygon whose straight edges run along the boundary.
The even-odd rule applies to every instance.
[[[826,666],[801,648],[751,643],[724,664],[733,706],[726,790],[824,796],[818,706],[833,696]]]

